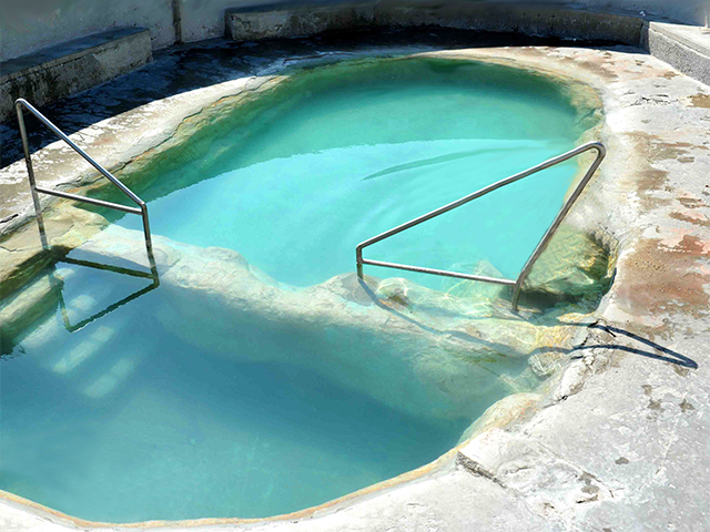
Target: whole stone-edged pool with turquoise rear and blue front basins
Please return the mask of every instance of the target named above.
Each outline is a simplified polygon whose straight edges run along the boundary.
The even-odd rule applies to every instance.
[[[403,284],[428,298],[417,307],[342,274],[358,242],[568,150],[580,119],[564,86],[528,72],[365,61],[294,74],[142,162],[125,177],[172,241],[158,238],[161,285],[102,314],[146,279],[77,264],[38,277],[43,311],[0,366],[0,489],[97,521],[252,518],[436,459],[540,383],[527,360],[540,335],[506,317],[485,336],[454,296]],[[373,255],[513,277],[576,170]],[[115,222],[118,236],[140,228]]]

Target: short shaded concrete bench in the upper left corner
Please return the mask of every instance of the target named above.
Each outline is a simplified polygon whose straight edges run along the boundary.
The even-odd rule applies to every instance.
[[[0,64],[0,122],[14,100],[44,105],[135,70],[152,59],[151,35],[122,28],[58,44]]]

